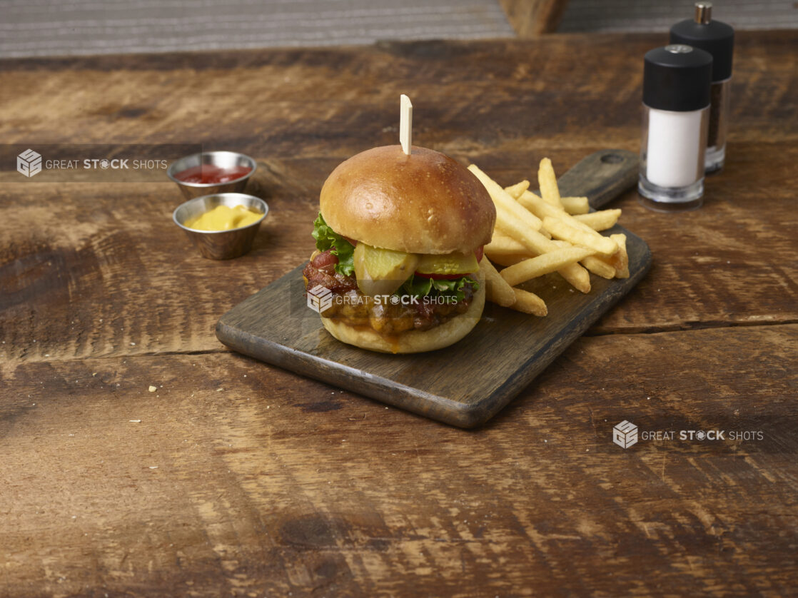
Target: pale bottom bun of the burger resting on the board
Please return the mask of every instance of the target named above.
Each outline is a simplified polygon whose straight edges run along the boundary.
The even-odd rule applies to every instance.
[[[485,280],[483,273],[475,274],[480,288],[472,297],[465,313],[452,317],[429,330],[409,330],[397,335],[384,336],[367,326],[350,326],[335,318],[323,317],[322,325],[338,340],[356,347],[384,353],[420,353],[448,347],[463,338],[482,317],[485,305]]]

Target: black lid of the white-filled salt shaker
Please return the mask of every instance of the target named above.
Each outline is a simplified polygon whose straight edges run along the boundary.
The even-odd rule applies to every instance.
[[[689,112],[709,106],[712,55],[690,45],[672,44],[646,53],[643,103],[650,108]]]

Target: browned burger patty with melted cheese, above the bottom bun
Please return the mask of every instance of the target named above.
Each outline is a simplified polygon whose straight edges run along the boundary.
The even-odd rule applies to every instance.
[[[369,326],[381,334],[399,334],[409,330],[429,330],[468,311],[474,298],[473,285],[463,285],[464,299],[455,302],[425,301],[419,297],[410,305],[376,301],[361,293],[354,276],[335,272],[338,258],[330,250],[314,254],[302,270],[305,289],[322,285],[333,293],[333,304],[322,316],[343,321],[350,326]],[[431,298],[431,297],[430,297]]]

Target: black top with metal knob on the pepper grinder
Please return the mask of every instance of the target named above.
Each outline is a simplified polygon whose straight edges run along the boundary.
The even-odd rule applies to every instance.
[[[732,76],[734,30],[724,22],[712,20],[709,2],[696,2],[695,19],[680,21],[670,28],[670,43],[692,45],[712,54],[713,81],[724,81]]]

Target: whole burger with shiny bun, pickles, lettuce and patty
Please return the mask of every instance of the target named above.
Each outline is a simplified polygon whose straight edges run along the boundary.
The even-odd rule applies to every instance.
[[[331,300],[320,314],[332,336],[373,351],[432,351],[480,320],[479,262],[496,208],[455,160],[400,145],[363,151],[335,168],[319,208],[303,274],[309,293]]]

